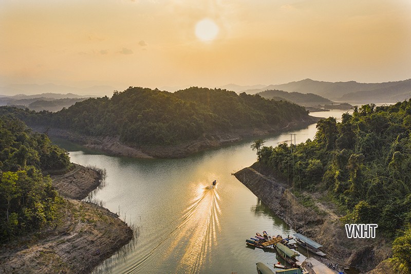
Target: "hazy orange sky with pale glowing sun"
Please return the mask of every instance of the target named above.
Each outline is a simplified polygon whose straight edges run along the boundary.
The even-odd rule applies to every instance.
[[[410,14],[409,0],[1,0],[0,86],[405,80]]]

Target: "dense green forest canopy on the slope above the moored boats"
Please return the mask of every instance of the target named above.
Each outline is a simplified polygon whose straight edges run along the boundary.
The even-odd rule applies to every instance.
[[[316,127],[314,140],[293,145],[293,153],[285,143],[263,147],[260,162],[284,177],[292,178],[287,170],[295,167],[295,181],[332,193],[347,222],[378,224],[381,233],[399,236],[393,250],[402,252],[394,259],[411,267],[411,100],[363,105],[341,122],[331,117]]]

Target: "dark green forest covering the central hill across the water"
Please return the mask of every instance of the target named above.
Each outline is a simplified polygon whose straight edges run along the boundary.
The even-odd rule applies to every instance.
[[[305,108],[223,89],[191,87],[176,93],[129,87],[113,97],[90,98],[57,113],[10,107],[29,125],[57,127],[90,136],[120,136],[139,145],[178,144],[204,133],[242,129],[280,129],[290,122],[309,121]]]

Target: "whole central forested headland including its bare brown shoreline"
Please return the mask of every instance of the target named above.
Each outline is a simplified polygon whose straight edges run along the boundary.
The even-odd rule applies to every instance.
[[[175,93],[129,87],[56,113],[3,106],[0,114],[12,114],[50,136],[138,158],[185,157],[318,120],[294,103],[199,87]]]

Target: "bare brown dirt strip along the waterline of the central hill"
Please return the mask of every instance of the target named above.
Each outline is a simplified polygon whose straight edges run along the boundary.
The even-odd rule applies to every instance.
[[[177,145],[144,146],[139,148],[133,147],[132,144],[122,143],[119,136],[85,136],[68,130],[46,129],[41,126],[32,127],[34,131],[47,132],[47,134],[51,137],[66,139],[79,143],[86,148],[103,151],[111,155],[134,158],[182,158],[196,152],[217,148],[225,144],[239,142],[247,138],[270,135],[281,131],[295,129],[297,127],[307,126],[319,120],[320,118],[309,116],[305,120],[292,121],[284,127],[266,126],[260,129],[250,128],[234,130],[230,133],[215,132],[203,134],[196,140],[187,141]]]

